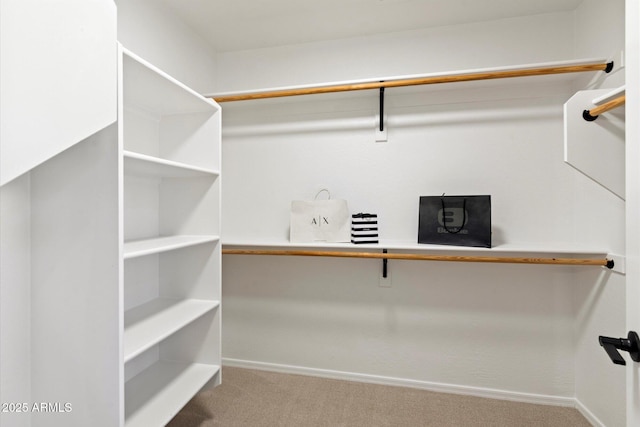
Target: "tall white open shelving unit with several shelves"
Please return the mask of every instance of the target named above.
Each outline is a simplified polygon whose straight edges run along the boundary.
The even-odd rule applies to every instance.
[[[220,108],[122,49],[126,426],[220,383]]]

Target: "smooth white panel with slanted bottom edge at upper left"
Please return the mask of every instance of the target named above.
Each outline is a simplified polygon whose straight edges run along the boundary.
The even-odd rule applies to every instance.
[[[2,0],[0,185],[117,118],[112,0]]]

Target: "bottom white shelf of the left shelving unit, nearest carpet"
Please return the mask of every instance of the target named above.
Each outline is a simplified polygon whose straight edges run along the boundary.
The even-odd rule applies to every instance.
[[[219,370],[197,363],[154,364],[125,384],[125,425],[166,425]]]

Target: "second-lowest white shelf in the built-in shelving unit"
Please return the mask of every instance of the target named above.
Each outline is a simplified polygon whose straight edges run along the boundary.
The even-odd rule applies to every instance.
[[[124,314],[124,361],[220,305],[219,301],[158,298]]]

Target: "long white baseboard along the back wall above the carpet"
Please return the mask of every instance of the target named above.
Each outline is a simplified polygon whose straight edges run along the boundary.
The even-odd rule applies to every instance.
[[[455,384],[444,384],[430,381],[416,381],[405,378],[385,377],[380,375],[358,374],[354,372],[333,371],[328,369],[306,368],[302,366],[281,365],[276,363],[255,362],[240,359],[222,359],[223,366],[256,369],[261,371],[279,372],[283,374],[308,375],[313,377],[331,378],[337,380],[357,381],[371,384],[382,384],[399,387],[411,387],[439,393],[462,394],[467,396],[485,397],[489,399],[510,400],[514,402],[535,403],[540,405],[567,406],[577,408],[589,421],[597,420],[583,405],[577,406],[573,397],[552,396],[533,393],[497,390],[482,387],[469,387]],[[589,414],[589,415],[586,415]],[[594,423],[600,426],[600,423]]]

